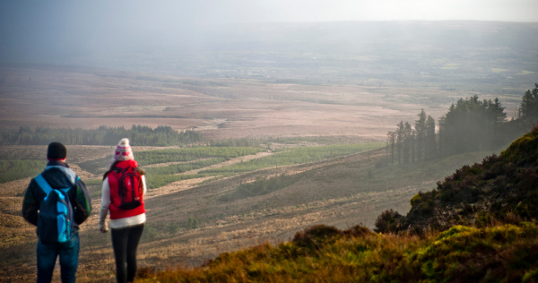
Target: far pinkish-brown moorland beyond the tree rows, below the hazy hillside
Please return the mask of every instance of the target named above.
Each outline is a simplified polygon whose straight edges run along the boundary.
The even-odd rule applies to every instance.
[[[121,77],[103,76],[116,73]],[[196,85],[136,79],[135,73],[35,65],[0,66],[0,127],[142,124],[194,129],[215,141],[239,137],[346,136],[385,141],[400,120],[424,108],[438,119],[476,91],[359,85],[301,85],[241,79],[197,79]],[[164,76],[174,79],[174,77]],[[180,80],[182,78],[175,78]],[[525,87],[499,97],[513,116]],[[481,99],[494,94],[478,93]]]

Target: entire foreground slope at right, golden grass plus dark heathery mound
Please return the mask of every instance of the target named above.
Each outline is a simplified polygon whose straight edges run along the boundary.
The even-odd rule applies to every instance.
[[[454,217],[455,221],[446,220],[446,227],[437,226],[444,232],[430,225],[426,232],[394,236],[374,234],[365,227],[341,231],[320,225],[288,243],[222,253],[196,269],[144,269],[140,278],[144,282],[536,282],[538,226],[522,219],[534,221],[537,213],[537,152],[535,127],[499,158],[458,169],[436,190],[413,197],[412,210],[402,223],[422,228],[432,222],[432,215],[436,219],[446,215],[442,209],[447,205],[454,209],[456,201],[462,202],[462,210],[454,212],[459,220]],[[469,199],[482,204],[467,207]],[[447,227],[469,224],[471,217],[480,220],[481,213],[495,220],[472,221],[476,227]]]

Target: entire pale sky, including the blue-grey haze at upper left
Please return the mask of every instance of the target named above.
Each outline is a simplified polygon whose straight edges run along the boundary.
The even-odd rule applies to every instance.
[[[0,0],[0,61],[58,47],[185,39],[222,24],[538,21],[537,14],[538,0]]]

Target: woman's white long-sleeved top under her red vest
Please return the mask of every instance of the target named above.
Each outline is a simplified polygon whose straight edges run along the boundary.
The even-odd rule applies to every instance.
[[[143,194],[147,192],[145,184],[145,176],[142,176]],[[105,219],[107,219],[108,206],[110,206],[110,185],[108,184],[108,177],[103,181],[102,193],[101,193],[101,207],[99,211],[99,227],[100,229],[105,225]],[[123,228],[143,224],[145,222],[145,213],[135,216],[127,217],[124,219],[110,219],[110,227]]]

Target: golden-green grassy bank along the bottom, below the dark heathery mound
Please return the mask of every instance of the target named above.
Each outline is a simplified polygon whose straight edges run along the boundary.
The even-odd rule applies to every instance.
[[[196,269],[139,272],[142,282],[535,282],[538,227],[456,226],[427,236],[317,226],[291,242],[222,253]]]

